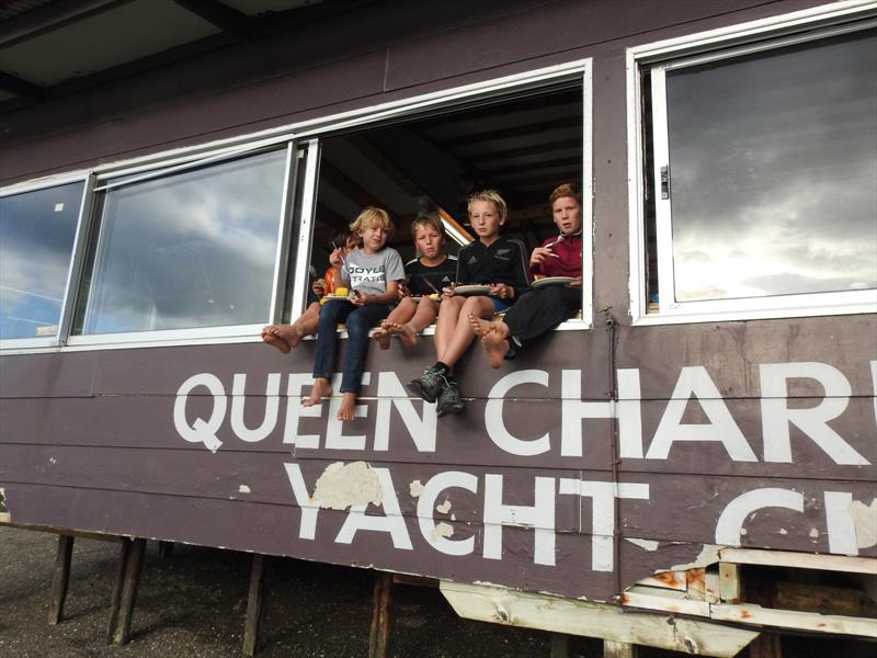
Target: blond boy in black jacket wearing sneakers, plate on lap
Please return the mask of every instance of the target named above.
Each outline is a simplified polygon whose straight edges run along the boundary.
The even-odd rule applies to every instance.
[[[478,240],[459,250],[456,284],[442,292],[435,326],[437,361],[408,384],[410,392],[428,402],[437,401],[438,417],[464,409],[452,370],[475,339],[469,315],[490,318],[509,308],[528,286],[524,243],[500,237],[508,211],[499,192],[486,190],[472,194],[468,212]],[[487,285],[488,292],[465,297],[455,294],[459,284]]]

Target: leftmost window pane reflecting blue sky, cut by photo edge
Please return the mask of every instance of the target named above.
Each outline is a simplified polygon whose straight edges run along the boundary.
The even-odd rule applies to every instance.
[[[58,332],[82,189],[0,197],[0,339]]]

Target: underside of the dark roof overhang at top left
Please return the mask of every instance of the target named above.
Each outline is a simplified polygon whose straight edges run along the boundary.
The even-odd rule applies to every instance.
[[[351,3],[8,0],[0,4],[0,111],[252,41],[314,11]]]

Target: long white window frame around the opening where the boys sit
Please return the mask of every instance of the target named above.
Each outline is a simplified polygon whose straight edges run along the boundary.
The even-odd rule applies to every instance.
[[[295,189],[291,188],[293,184],[294,175],[291,174],[288,168],[295,160],[295,152],[291,154],[287,159],[287,177],[284,191],[284,206],[281,220],[278,236],[278,253],[275,254],[275,270],[274,283],[272,291],[272,308],[270,317],[265,321],[276,321],[283,313],[283,281],[282,274],[284,270],[284,254],[281,250],[285,246],[287,252],[292,249],[288,243],[288,238],[292,235],[292,225],[294,222],[299,223],[298,227],[298,243],[296,247],[296,262],[295,262],[295,276],[293,293],[293,313],[304,309],[307,294],[308,262],[310,258],[311,240],[312,240],[312,219],[316,211],[317,201],[317,183],[319,170],[319,145],[320,140],[340,131],[349,131],[352,127],[362,126],[367,128],[368,125],[378,125],[381,122],[391,118],[414,118],[424,113],[431,112],[433,109],[443,109],[451,106],[465,107],[471,101],[483,100],[494,97],[513,98],[516,91],[524,92],[537,90],[542,87],[549,87],[557,82],[576,81],[581,83],[582,88],[582,228],[583,228],[583,246],[582,246],[582,268],[584,272],[582,284],[582,318],[573,319],[563,322],[559,330],[588,330],[593,327],[593,184],[592,184],[592,59],[579,59],[561,65],[534,69],[521,73],[514,73],[492,80],[475,82],[471,84],[451,88],[443,91],[431,92],[408,99],[390,101],[380,103],[373,106],[363,107],[360,110],[348,111],[320,117],[317,120],[309,120],[296,124],[280,126],[267,131],[261,131],[249,135],[241,135],[232,138],[220,139],[207,144],[196,145],[192,147],[183,147],[172,151],[164,151],[153,154],[129,160],[123,160],[114,163],[102,164],[95,167],[93,170],[80,173],[80,177],[89,178],[92,180],[93,190],[88,190],[88,207],[91,207],[95,198],[94,193],[105,191],[119,184],[139,182],[150,178],[164,175],[173,171],[206,164],[209,162],[218,162],[228,158],[238,157],[249,151],[255,151],[266,146],[288,141],[288,147],[292,151],[294,144],[299,147],[307,145],[306,163],[301,175],[304,180],[304,194],[301,198],[301,207],[296,209],[296,216],[291,216],[289,203]],[[123,177],[130,177],[123,181]],[[23,183],[29,185],[31,183]],[[10,188],[19,189],[22,185],[13,185]],[[39,186],[48,186],[46,184]],[[0,193],[4,193],[0,189]],[[77,232],[77,243],[79,259],[75,263],[76,266],[71,268],[71,272],[76,271],[77,275],[70,277],[70,285],[68,292],[75,288],[79,281],[81,281],[82,256],[84,246],[80,245],[80,240],[84,240],[90,234],[90,225],[94,219],[84,214],[83,218],[80,217],[80,226]],[[86,238],[83,238],[86,236]],[[78,270],[77,270],[78,268]],[[96,349],[127,349],[127,348],[148,348],[160,345],[189,345],[189,344],[217,344],[217,343],[232,343],[232,342],[257,342],[260,340],[259,330],[262,324],[259,325],[242,325],[231,327],[205,327],[196,329],[171,329],[160,331],[132,331],[125,333],[102,333],[102,334],[88,334],[88,336],[70,336],[70,314],[72,313],[73,297],[65,299],[65,317],[66,324],[59,330],[59,336],[53,343],[47,343],[43,347],[29,343],[27,345],[7,345],[5,341],[0,345],[3,353],[20,353],[33,351],[46,351],[49,348],[52,351],[81,351],[81,350],[96,350]],[[425,331],[424,333],[430,333]],[[30,340],[30,339],[29,339]],[[5,349],[10,348],[10,349]]]

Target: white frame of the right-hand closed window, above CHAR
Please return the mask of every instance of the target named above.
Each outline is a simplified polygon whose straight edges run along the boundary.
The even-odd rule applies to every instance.
[[[853,22],[855,21],[855,22]],[[630,230],[630,315],[634,325],[707,322],[877,313],[877,290],[800,293],[734,299],[673,302],[672,217],[670,200],[660,198],[661,168],[669,163],[664,80],[667,71],[706,61],[824,39],[877,25],[877,2],[851,0],[782,14],[627,49],[628,208]],[[806,32],[805,32],[806,31]],[[646,173],[640,76],[649,65],[652,89],[656,238],[658,251],[657,313],[649,313],[646,256]],[[672,173],[672,172],[671,172]],[[665,300],[670,300],[668,304]]]

